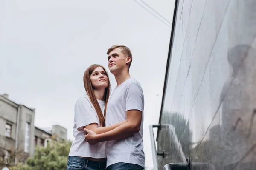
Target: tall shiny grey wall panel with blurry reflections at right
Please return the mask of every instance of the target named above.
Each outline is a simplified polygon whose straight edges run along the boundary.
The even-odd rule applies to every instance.
[[[186,157],[256,169],[256,1],[180,0],[176,22],[161,117],[175,133],[159,133],[160,169]]]

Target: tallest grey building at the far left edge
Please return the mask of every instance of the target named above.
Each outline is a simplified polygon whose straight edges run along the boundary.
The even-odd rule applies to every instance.
[[[0,164],[15,164],[34,156],[35,109],[0,95]],[[1,166],[1,165],[0,165]]]

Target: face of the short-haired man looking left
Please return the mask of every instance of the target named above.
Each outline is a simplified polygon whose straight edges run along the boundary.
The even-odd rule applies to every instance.
[[[108,68],[112,74],[128,67],[126,64],[129,63],[130,57],[127,57],[121,51],[120,48],[115,48],[108,54]]]

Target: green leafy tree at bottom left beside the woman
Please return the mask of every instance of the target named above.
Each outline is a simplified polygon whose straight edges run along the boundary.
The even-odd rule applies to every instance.
[[[35,156],[25,164],[17,164],[11,170],[66,170],[67,156],[72,142],[52,141],[47,147],[37,147]]]

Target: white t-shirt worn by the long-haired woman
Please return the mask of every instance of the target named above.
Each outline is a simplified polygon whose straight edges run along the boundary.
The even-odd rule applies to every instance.
[[[105,101],[97,100],[99,106],[104,113]],[[105,142],[90,145],[84,139],[83,126],[91,123],[97,123],[99,127],[99,118],[93,104],[90,102],[89,96],[80,97],[75,105],[75,117],[73,126],[73,136],[75,141],[70,148],[69,156],[106,158]]]

